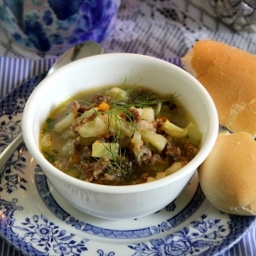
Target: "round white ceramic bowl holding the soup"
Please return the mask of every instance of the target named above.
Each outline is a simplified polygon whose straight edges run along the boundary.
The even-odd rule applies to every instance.
[[[176,93],[203,134],[195,158],[176,173],[149,183],[107,186],[82,182],[54,168],[38,148],[38,137],[49,112],[61,101],[87,88],[140,83],[161,93]],[[218,134],[215,105],[205,88],[191,75],[153,57],[111,53],[74,61],[47,76],[30,96],[22,118],[24,141],[52,186],[75,208],[105,219],[138,218],[164,208],[174,200],[196,168],[209,155]]]

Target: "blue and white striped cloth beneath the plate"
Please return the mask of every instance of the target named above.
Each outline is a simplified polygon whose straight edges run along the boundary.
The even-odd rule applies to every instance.
[[[26,60],[18,58],[0,57],[0,100],[8,92],[12,91],[25,80],[34,77],[36,74],[46,72],[57,58]],[[182,61],[178,58],[169,58],[165,61],[182,66]],[[222,256],[256,256],[256,222],[249,233]],[[19,250],[10,246],[4,237],[0,236],[0,256],[21,256]]]

